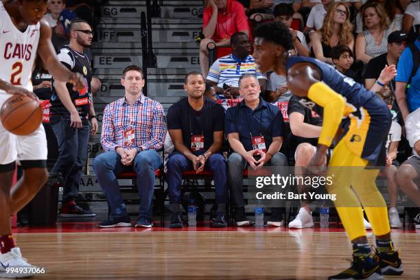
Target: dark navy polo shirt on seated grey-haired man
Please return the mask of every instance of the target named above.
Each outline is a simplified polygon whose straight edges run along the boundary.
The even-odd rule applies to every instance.
[[[272,137],[284,136],[284,121],[281,111],[276,106],[265,102],[259,97],[259,104],[252,110],[242,100],[240,104],[229,108],[224,117],[224,132],[237,132],[245,150],[253,150],[252,137],[262,135],[266,141],[266,148],[270,147]]]

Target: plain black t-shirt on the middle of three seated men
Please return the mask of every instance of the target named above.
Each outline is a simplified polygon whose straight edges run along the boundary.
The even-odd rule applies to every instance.
[[[213,145],[213,132],[223,131],[224,110],[222,106],[205,98],[204,106],[196,111],[188,103],[188,98],[176,102],[167,111],[167,129],[182,130],[183,143],[191,148],[191,135],[204,135],[204,150]]]

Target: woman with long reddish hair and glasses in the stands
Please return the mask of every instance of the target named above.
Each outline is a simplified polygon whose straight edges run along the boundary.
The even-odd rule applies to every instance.
[[[350,10],[344,3],[331,3],[325,14],[323,27],[311,34],[312,56],[334,65],[331,58],[331,47],[347,45],[354,47],[353,26],[349,21]]]

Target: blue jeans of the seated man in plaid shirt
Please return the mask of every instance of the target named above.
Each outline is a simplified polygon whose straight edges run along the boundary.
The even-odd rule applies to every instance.
[[[155,150],[139,152],[133,164],[126,166],[121,163],[121,156],[117,152],[104,152],[93,160],[97,182],[105,191],[109,202],[110,218],[127,215],[126,205],[119,191],[117,176],[122,172],[134,171],[137,174],[137,188],[139,190],[140,209],[139,219],[152,220],[152,200],[154,191],[154,170],[161,167],[162,160]]]

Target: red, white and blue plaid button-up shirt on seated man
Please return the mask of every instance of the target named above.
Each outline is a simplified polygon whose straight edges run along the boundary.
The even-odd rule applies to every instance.
[[[131,146],[124,143],[124,132],[134,128],[135,141]],[[165,113],[159,102],[141,94],[139,100],[130,105],[123,97],[108,104],[102,119],[101,144],[106,151],[116,147],[159,150],[166,135]]]

